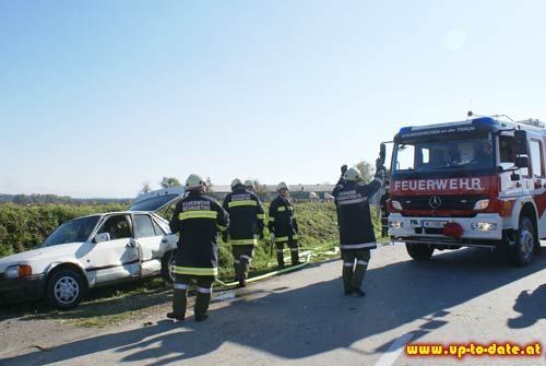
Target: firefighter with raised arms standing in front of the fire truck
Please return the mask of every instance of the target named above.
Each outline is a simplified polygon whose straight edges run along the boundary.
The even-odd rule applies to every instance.
[[[366,296],[361,285],[370,260],[370,249],[377,248],[369,199],[383,184],[381,168],[377,172],[379,173],[369,185],[363,185],[360,173],[351,168],[345,172],[333,192],[339,212],[343,286],[346,295]]]

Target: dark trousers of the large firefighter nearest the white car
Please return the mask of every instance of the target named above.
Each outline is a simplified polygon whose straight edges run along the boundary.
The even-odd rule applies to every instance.
[[[209,310],[214,276],[175,274],[173,312],[177,317],[183,318],[186,316],[186,307],[188,306],[188,288],[190,287],[190,284],[193,280],[195,280],[197,282],[194,308],[195,317],[204,316]]]

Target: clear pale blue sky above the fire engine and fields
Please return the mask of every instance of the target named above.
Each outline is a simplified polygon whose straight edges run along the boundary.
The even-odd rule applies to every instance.
[[[546,119],[544,1],[1,1],[0,192],[333,182],[407,125]]]

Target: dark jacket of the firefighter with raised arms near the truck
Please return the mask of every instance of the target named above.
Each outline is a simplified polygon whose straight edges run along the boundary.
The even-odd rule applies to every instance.
[[[340,226],[340,249],[377,248],[369,199],[381,185],[382,176],[378,174],[369,185],[346,181],[335,187],[333,194]]]

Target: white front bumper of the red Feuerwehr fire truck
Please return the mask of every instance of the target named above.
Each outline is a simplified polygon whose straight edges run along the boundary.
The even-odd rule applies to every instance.
[[[455,222],[463,228],[463,235],[459,239],[453,239],[441,235],[441,231],[426,229],[422,223],[424,221],[449,221]],[[394,225],[394,223],[396,223]],[[474,229],[473,224],[490,223],[494,229]],[[392,227],[400,226],[400,227]],[[502,217],[498,214],[477,214],[475,217],[405,217],[400,213],[389,216],[389,235],[391,238],[406,241],[438,241],[462,245],[479,245],[483,241],[498,241],[502,239]]]

